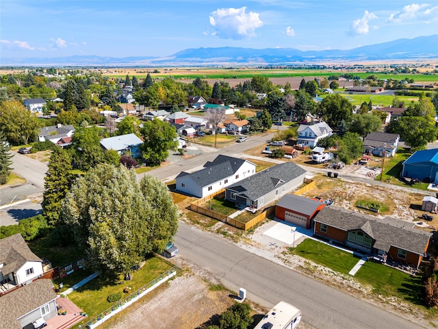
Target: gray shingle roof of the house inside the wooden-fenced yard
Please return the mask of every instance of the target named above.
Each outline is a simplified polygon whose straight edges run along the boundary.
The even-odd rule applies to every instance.
[[[298,166],[298,164],[285,162],[260,171],[227,187],[227,189],[236,191],[237,195],[242,195],[247,199],[256,200],[270,193],[274,188],[282,186],[305,173],[306,171]]]

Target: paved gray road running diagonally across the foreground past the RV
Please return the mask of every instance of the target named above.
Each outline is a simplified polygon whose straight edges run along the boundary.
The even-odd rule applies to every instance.
[[[315,328],[422,328],[185,223],[180,222],[175,244],[179,257],[214,273],[231,291],[243,287],[248,299],[267,308],[289,302]]]

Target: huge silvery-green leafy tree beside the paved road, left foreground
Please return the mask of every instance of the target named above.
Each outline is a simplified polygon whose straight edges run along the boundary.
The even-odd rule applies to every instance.
[[[129,273],[177,232],[178,210],[167,187],[135,171],[100,164],[73,184],[63,203],[64,221],[94,270]]]

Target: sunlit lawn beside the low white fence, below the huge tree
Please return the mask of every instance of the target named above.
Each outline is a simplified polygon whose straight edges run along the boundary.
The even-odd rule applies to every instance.
[[[115,304],[107,302],[108,295],[123,293],[125,287],[131,287],[130,292],[133,293],[170,268],[172,265],[161,258],[149,258],[141,269],[133,272],[133,280],[123,281],[123,276],[116,278],[116,280],[108,280],[98,276],[77,291],[70,293],[68,299],[79,306],[83,312],[88,313],[88,319],[83,321],[87,322]],[[123,282],[123,284],[118,284],[118,282]],[[123,293],[123,298],[128,295],[129,293]]]

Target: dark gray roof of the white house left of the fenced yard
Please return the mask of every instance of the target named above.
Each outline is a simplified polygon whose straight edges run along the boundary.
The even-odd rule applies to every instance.
[[[242,167],[245,161],[244,159],[219,155],[213,161],[206,162],[204,169],[195,171],[194,173],[182,171],[177,175],[177,178],[190,176],[196,185],[203,187],[230,177],[237,169]]]

